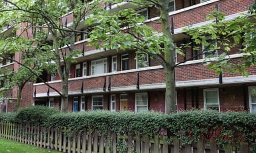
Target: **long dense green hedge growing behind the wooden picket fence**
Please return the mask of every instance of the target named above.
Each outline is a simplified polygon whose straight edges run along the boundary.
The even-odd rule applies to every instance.
[[[201,138],[215,139],[219,145],[231,142],[256,142],[256,115],[248,112],[184,111],[170,115],[159,112],[79,112],[60,113],[45,107],[23,108],[17,113],[1,114],[1,120],[58,127],[68,131],[115,132],[120,135],[166,134],[181,143],[191,144]]]

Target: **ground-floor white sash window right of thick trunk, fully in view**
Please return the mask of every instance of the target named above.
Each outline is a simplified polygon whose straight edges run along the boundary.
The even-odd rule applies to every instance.
[[[219,89],[204,89],[204,109],[220,111]]]

